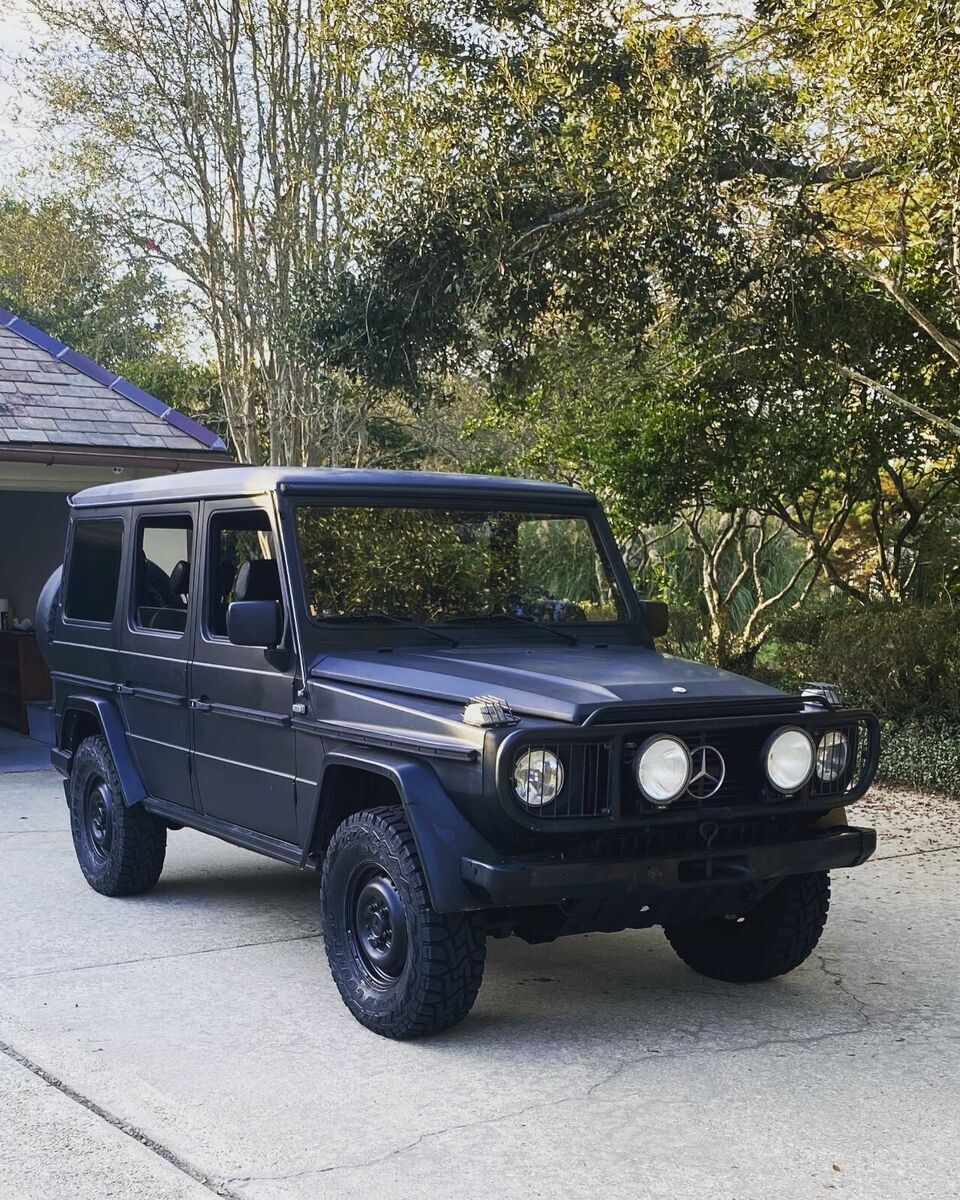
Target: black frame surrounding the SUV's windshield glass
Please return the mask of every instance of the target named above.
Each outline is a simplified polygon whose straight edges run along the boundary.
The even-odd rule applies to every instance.
[[[296,496],[284,497],[282,502],[283,516],[286,517],[286,520],[282,520],[282,524],[286,527],[284,532],[288,534],[288,560],[292,576],[290,583],[295,595],[296,607],[302,614],[305,622],[304,632],[306,632],[306,628],[308,628],[312,636],[316,637],[319,635],[324,637],[324,641],[326,638],[332,638],[337,642],[342,642],[346,636],[354,643],[365,642],[382,646],[386,640],[390,643],[408,644],[415,641],[421,641],[425,636],[425,630],[418,630],[415,625],[404,625],[388,620],[378,622],[373,617],[368,620],[358,622],[355,624],[340,623],[336,619],[328,622],[314,618],[310,612],[304,569],[300,559],[298,512],[301,508],[418,510],[456,509],[457,511],[476,512],[540,512],[557,517],[581,518],[587,523],[596,553],[608,572],[611,581],[619,592],[623,614],[617,620],[564,620],[556,624],[551,622],[533,620],[529,624],[517,622],[517,624],[514,625],[506,622],[503,624],[491,623],[484,620],[482,617],[479,617],[474,622],[464,619],[455,624],[445,624],[444,622],[421,622],[420,624],[425,626],[425,630],[437,629],[449,631],[454,634],[458,641],[467,638],[474,641],[480,638],[482,641],[529,642],[535,640],[538,644],[550,644],[545,637],[545,631],[554,629],[569,630],[571,634],[577,636],[577,640],[583,637],[592,641],[606,641],[611,635],[616,638],[618,634],[636,634],[637,631],[641,631],[649,637],[647,632],[647,624],[642,616],[642,604],[634,589],[626,570],[626,564],[624,563],[620,550],[613,538],[606,515],[600,504],[593,497],[580,494],[571,498],[569,502],[566,502],[565,498],[564,500],[558,500],[556,497],[551,497],[547,503],[544,503],[535,497],[502,496],[497,493],[486,496],[482,493],[475,493],[467,497],[440,493],[424,494],[421,492],[420,494],[412,493],[407,496],[384,497],[371,496],[370,493],[358,494],[355,491],[350,491],[350,493],[341,492],[341,494],[320,491],[317,493],[299,492]],[[553,638],[551,638],[551,642],[552,641]],[[557,644],[559,646],[559,641],[557,641]],[[437,644],[437,649],[443,649],[443,647]]]

